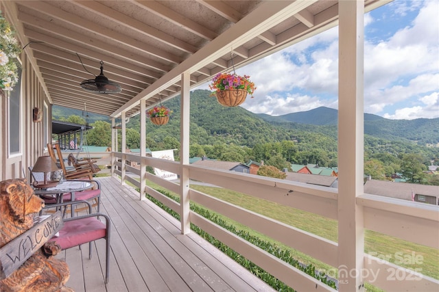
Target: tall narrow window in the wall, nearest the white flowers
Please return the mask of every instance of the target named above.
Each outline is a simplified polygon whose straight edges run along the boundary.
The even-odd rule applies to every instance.
[[[21,68],[19,81],[9,95],[9,155],[21,154]]]

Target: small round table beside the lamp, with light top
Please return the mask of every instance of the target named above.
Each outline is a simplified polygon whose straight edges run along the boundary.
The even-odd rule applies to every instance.
[[[71,194],[71,202],[75,200],[75,192],[76,191],[84,191],[84,189],[91,189],[93,187],[92,183],[87,181],[63,181],[62,183],[58,183],[56,187],[48,187],[47,189],[38,189],[34,188],[34,194],[37,196],[41,195],[52,195],[56,196],[56,202],[62,203],[62,197],[66,193]],[[74,209],[72,206],[71,217],[74,216]]]

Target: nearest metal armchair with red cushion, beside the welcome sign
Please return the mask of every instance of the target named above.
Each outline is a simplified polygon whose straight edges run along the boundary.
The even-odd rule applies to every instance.
[[[87,201],[63,202],[58,204],[64,207],[69,204],[88,204],[88,214],[78,217],[64,219],[64,226],[58,232],[57,236],[52,237],[49,241],[55,241],[61,247],[61,250],[67,250],[75,246],[88,243],[88,258],[91,258],[92,241],[97,239],[106,240],[106,271],[105,282],[108,283],[110,274],[110,217],[102,213],[92,213],[91,204]],[[71,207],[73,208],[73,206]],[[43,208],[44,209],[44,208]],[[105,224],[100,217],[104,217]]]

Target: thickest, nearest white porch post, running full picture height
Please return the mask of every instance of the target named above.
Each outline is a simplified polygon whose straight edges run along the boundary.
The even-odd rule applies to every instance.
[[[339,291],[364,291],[364,1],[339,1],[338,269]]]

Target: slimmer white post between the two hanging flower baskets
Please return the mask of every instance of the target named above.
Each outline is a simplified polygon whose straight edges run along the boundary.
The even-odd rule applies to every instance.
[[[180,165],[182,172],[180,174],[180,222],[182,234],[191,231],[191,222],[189,220],[189,170],[185,168],[185,165],[189,165],[190,77],[189,72],[181,75]]]

